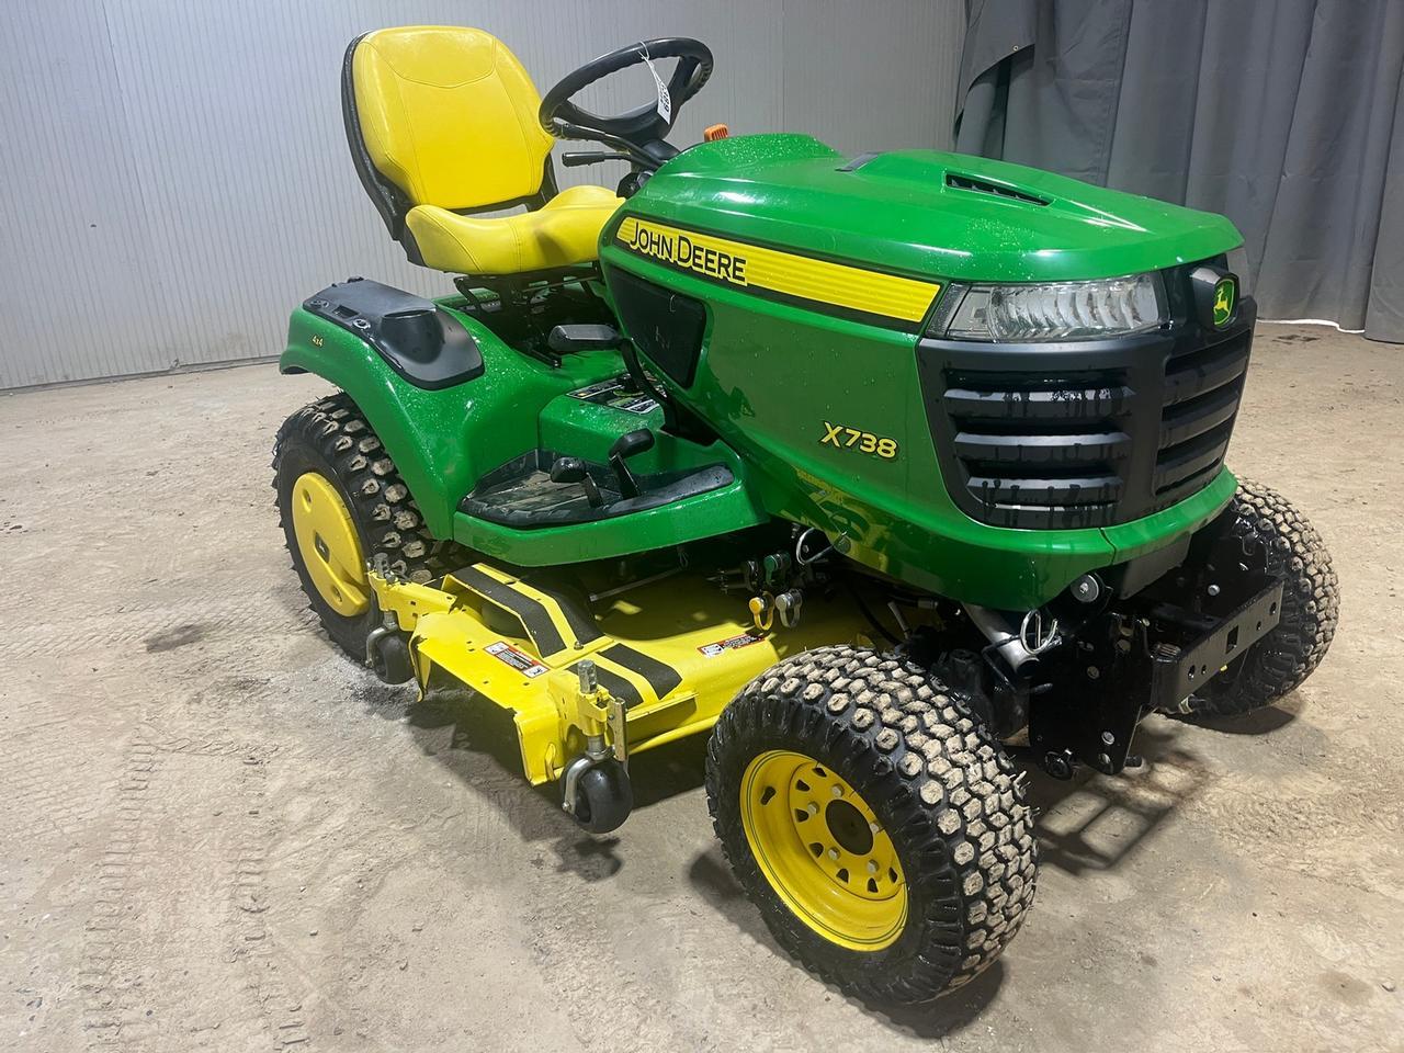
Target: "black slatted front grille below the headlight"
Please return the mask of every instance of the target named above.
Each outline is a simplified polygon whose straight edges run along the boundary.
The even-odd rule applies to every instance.
[[[1111,526],[1189,497],[1228,448],[1252,341],[1192,320],[1105,341],[922,340],[918,372],[956,505],[997,526]]]

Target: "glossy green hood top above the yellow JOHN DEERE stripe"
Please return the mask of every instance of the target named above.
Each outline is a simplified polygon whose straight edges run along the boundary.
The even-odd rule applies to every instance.
[[[750,135],[678,154],[626,213],[962,281],[1111,278],[1238,246],[1210,212],[935,150],[848,159],[807,135]]]

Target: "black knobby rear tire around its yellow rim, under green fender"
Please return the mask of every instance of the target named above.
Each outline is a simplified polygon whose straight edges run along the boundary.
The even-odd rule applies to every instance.
[[[365,661],[365,639],[379,625],[379,611],[372,601],[366,612],[347,618],[320,597],[307,576],[288,500],[303,472],[317,470],[337,487],[366,559],[383,555],[390,570],[418,583],[468,562],[465,549],[430,534],[395,461],[345,392],[309,403],[284,421],[274,441],[272,469],[278,518],[309,608],[331,640],[357,661]]]

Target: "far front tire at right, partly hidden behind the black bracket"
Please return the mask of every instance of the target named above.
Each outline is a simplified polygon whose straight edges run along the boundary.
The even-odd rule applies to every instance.
[[[1238,480],[1224,512],[1227,531],[1214,560],[1234,560],[1282,578],[1278,626],[1192,695],[1171,716],[1233,717],[1272,705],[1325,657],[1339,615],[1339,588],[1321,535],[1276,490]]]

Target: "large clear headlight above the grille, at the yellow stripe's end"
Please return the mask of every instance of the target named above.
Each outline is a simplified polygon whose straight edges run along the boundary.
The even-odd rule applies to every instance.
[[[953,288],[959,295],[960,289]],[[1165,322],[1160,274],[1049,285],[972,285],[959,305],[939,310],[953,340],[1085,340],[1144,333]],[[935,326],[934,326],[935,327]],[[934,336],[941,336],[934,333]]]

